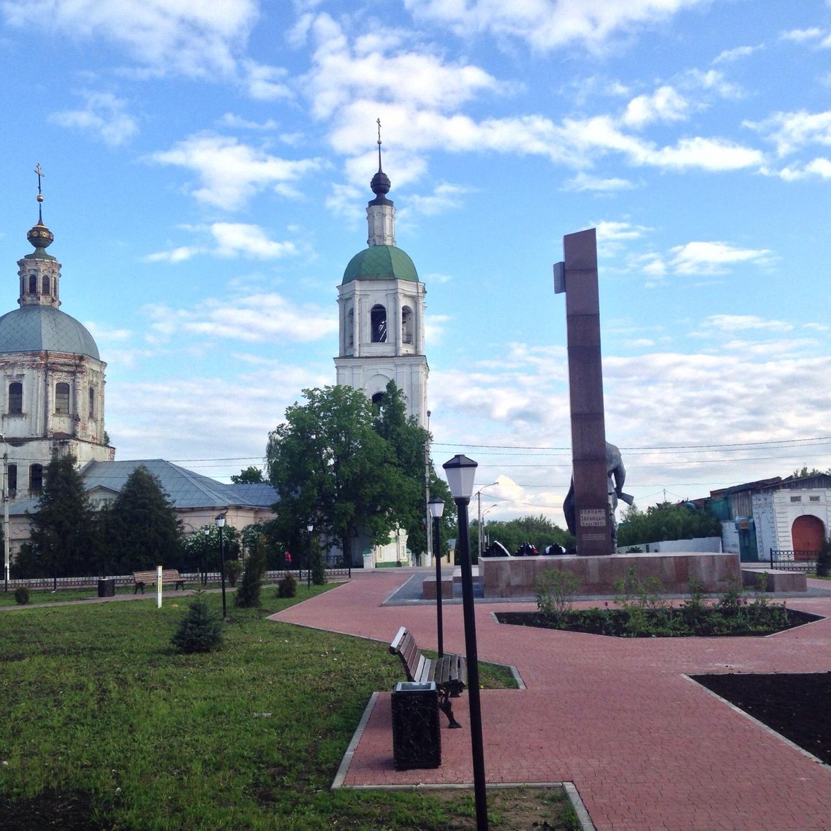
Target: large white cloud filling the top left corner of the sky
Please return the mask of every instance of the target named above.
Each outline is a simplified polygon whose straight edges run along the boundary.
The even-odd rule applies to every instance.
[[[12,26],[115,42],[150,71],[188,76],[233,75],[258,18],[255,0],[17,0],[2,11]]]

